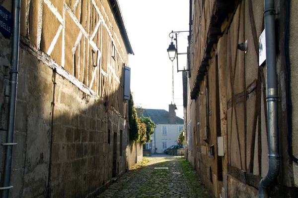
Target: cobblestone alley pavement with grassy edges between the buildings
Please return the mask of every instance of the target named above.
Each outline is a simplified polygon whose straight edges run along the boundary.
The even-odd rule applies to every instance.
[[[156,154],[141,169],[118,178],[98,198],[210,198],[184,158]]]

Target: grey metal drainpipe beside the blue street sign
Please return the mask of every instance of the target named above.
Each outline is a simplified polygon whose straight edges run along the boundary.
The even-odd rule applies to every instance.
[[[12,49],[11,49],[11,70],[9,81],[9,104],[8,104],[8,120],[7,120],[7,135],[5,146],[5,161],[3,169],[1,198],[8,198],[10,186],[11,160],[12,160],[12,146],[15,121],[15,106],[16,106],[16,88],[17,88],[17,74],[18,74],[18,55],[19,55],[19,22],[20,22],[20,0],[14,0],[12,5],[13,16],[13,32],[12,32]]]

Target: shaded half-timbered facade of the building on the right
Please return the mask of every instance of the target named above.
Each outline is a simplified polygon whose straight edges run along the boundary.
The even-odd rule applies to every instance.
[[[267,103],[275,99],[267,94],[266,62],[259,64],[264,1],[190,0],[186,155],[213,197],[258,197],[268,154],[280,161],[269,196],[297,196],[296,7],[275,1],[275,12],[265,14],[273,13],[275,20],[279,154],[274,155]],[[239,50],[245,42],[247,48]]]

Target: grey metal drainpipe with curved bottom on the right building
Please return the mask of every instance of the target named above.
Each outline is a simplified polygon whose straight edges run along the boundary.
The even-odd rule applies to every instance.
[[[264,1],[264,18],[266,34],[266,68],[267,68],[267,114],[268,114],[268,172],[260,181],[259,198],[268,198],[268,188],[279,172],[280,155],[278,141],[278,95],[275,46],[275,8],[274,0]]]

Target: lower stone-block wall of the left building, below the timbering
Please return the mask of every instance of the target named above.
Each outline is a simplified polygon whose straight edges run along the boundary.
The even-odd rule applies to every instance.
[[[10,41],[0,35],[0,45],[0,139],[4,142]],[[94,196],[109,184],[113,173],[120,175],[129,168],[129,150],[135,153],[129,145],[128,122],[111,107],[122,92],[108,96],[108,108],[23,49],[17,90],[14,142],[18,145],[13,148],[11,197]],[[0,155],[4,159],[3,148]]]

